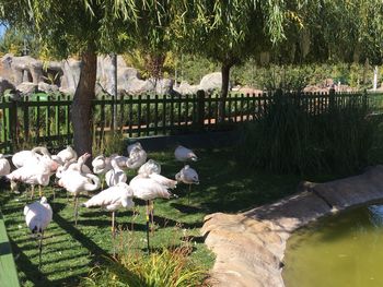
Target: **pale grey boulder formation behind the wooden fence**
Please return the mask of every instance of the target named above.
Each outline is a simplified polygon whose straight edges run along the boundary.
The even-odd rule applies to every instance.
[[[79,83],[81,62],[76,59],[43,62],[28,56],[14,57],[7,53],[0,61],[0,92],[15,89],[19,94],[28,95],[35,92],[61,92],[74,94]],[[98,56],[95,92],[112,94],[113,69],[109,56]],[[156,94],[195,94],[198,89],[211,92],[221,86],[221,73],[211,73],[202,77],[201,83],[190,86],[183,83],[174,88],[171,79],[142,80],[138,71],[127,67],[121,56],[117,57],[118,93],[137,95]]]

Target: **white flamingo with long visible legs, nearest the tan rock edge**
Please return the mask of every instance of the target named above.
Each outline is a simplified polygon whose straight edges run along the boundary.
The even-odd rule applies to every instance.
[[[161,175],[151,174],[149,177],[138,175],[130,180],[130,188],[134,191],[134,196],[147,202],[147,243],[148,252],[150,252],[149,244],[149,215],[153,213],[153,207],[149,212],[150,202],[154,199],[170,199],[173,194],[169,189],[176,187],[176,181],[165,178]]]

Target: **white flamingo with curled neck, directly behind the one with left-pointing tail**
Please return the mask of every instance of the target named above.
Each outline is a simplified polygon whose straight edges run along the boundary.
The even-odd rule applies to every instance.
[[[74,196],[74,225],[77,226],[78,220],[78,208],[79,208],[79,195],[82,191],[95,191],[100,188],[98,177],[92,174],[83,174],[82,166],[91,155],[85,153],[79,157],[78,164],[74,168],[67,169],[61,174],[61,178],[58,184],[65,188],[67,191]]]

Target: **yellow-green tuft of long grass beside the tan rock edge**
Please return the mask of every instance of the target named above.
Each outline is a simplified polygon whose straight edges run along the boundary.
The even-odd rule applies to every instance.
[[[163,249],[149,255],[124,253],[117,262],[94,268],[84,286],[204,286],[206,274],[188,258],[190,248]]]

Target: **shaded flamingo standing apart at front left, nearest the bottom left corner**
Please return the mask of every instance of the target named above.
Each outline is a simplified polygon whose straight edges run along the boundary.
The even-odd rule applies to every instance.
[[[24,207],[25,223],[32,234],[39,235],[38,241],[38,268],[42,266],[42,251],[44,231],[51,222],[53,212],[51,207],[45,196],[40,201],[31,203]]]

